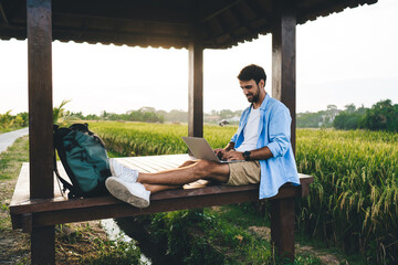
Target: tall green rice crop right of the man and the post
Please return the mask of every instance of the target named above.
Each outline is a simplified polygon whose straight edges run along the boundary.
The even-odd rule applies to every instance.
[[[369,263],[396,263],[398,134],[297,130],[296,161],[314,176],[300,227]]]

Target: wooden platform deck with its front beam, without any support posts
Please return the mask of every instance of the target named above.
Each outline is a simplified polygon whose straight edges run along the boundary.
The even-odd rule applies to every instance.
[[[134,166],[135,163],[142,165],[142,161],[146,160],[147,162],[151,162],[155,168],[158,161],[168,160],[169,167],[175,168],[187,159],[191,159],[191,157],[188,155],[172,155],[119,158],[118,160],[125,165],[126,161],[129,161],[127,166]],[[62,177],[69,180],[61,162],[59,162],[59,170]],[[153,170],[153,168],[150,170]],[[280,189],[277,195],[269,200],[300,198],[303,195],[303,189],[308,190],[307,188],[305,189],[305,187],[308,187],[313,181],[313,177],[301,174],[300,180],[302,186],[287,183]],[[153,194],[150,197],[151,202],[149,208],[137,209],[111,195],[67,200],[63,198],[59,191],[54,192],[56,197],[52,199],[30,200],[28,187],[29,163],[24,163],[15,187],[15,193],[18,194],[14,194],[10,205],[13,229],[23,229],[24,232],[33,231],[34,227],[38,226],[51,226],[69,222],[256,201],[259,195],[258,184],[241,187],[210,186],[201,189],[167,190]],[[56,190],[57,187],[54,187],[54,189]]]

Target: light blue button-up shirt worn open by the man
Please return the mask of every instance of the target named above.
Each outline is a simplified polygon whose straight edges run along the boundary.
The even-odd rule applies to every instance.
[[[231,141],[238,148],[244,140],[243,129],[248,123],[251,106],[244,109],[239,121],[237,134]],[[259,139],[256,148],[270,148],[273,157],[260,160],[261,178],[259,198],[270,198],[286,182],[300,184],[297,168],[294,160],[291,138],[292,118],[289,109],[280,100],[269,94],[260,106]]]

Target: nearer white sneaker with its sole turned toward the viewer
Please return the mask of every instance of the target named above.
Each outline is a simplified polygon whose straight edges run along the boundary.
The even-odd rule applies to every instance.
[[[109,177],[105,186],[112,195],[133,206],[149,206],[150,191],[147,191],[139,182],[127,182],[117,177]]]

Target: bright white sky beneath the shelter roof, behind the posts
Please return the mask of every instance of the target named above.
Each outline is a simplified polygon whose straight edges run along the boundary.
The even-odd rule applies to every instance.
[[[296,28],[297,113],[328,105],[398,104],[398,1],[346,9]],[[272,96],[271,34],[228,50],[205,50],[203,110],[244,109],[237,75],[264,67]],[[188,51],[53,42],[53,105],[83,114],[150,106],[188,109]],[[28,110],[25,41],[0,41],[0,114]]]

